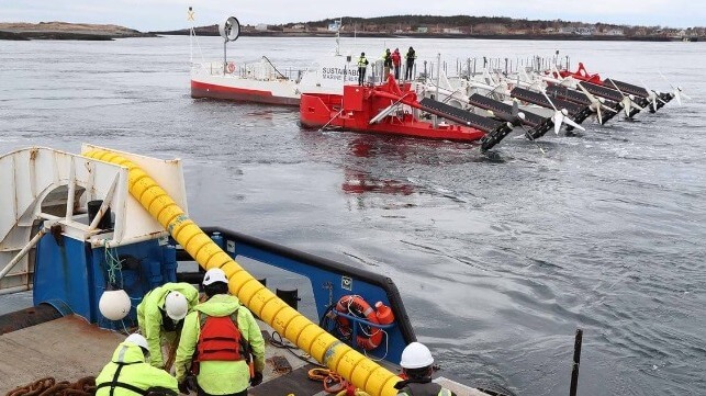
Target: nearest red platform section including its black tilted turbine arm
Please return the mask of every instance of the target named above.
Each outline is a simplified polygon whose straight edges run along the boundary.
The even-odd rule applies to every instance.
[[[447,121],[419,120],[417,111]],[[421,102],[410,84],[397,86],[392,76],[382,86],[345,86],[344,94],[303,93],[300,120],[309,127],[341,127],[349,131],[404,135],[456,142],[482,140],[483,149],[500,143],[512,127],[505,123],[424,99]]]

